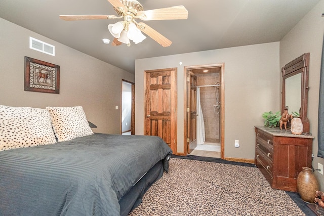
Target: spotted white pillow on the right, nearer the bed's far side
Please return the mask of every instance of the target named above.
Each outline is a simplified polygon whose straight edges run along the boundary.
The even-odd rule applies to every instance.
[[[46,107],[46,109],[51,114],[52,125],[58,142],[93,134],[82,106]]]

